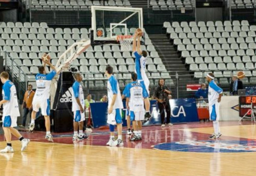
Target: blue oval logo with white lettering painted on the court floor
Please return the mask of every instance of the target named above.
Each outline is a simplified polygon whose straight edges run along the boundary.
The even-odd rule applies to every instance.
[[[256,142],[236,140],[181,141],[157,144],[154,148],[182,152],[256,152]]]

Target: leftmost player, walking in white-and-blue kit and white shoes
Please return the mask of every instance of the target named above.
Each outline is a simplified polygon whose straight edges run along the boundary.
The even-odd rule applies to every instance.
[[[21,142],[21,151],[24,151],[29,144],[29,139],[24,139],[23,136],[14,128],[17,126],[17,116],[20,116],[19,104],[15,85],[9,80],[9,74],[3,71],[0,74],[1,82],[3,83],[3,100],[0,101],[0,106],[3,105],[3,131],[7,142],[6,148],[0,150],[0,153],[14,152],[12,148],[12,134]]]

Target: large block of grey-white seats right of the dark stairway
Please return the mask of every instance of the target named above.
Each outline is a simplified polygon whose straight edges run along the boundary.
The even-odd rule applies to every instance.
[[[166,34],[181,57],[185,58],[194,77],[202,78],[209,71],[228,84],[231,71],[245,71],[256,76],[256,26],[247,20],[204,22],[165,22]],[[204,75],[203,75],[204,72]],[[250,82],[254,78],[250,78]],[[248,82],[247,78],[243,82]]]

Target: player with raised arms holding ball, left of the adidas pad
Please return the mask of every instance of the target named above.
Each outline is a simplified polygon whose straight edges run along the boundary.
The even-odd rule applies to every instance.
[[[46,127],[46,136],[45,139],[48,141],[52,140],[52,134],[50,132],[50,84],[52,79],[56,75],[56,69],[55,66],[53,66],[49,59],[46,59],[47,54],[44,54],[42,56],[42,60],[44,62],[44,66],[40,66],[38,68],[39,74],[35,76],[36,80],[36,91],[35,96],[32,101],[32,107],[33,111],[31,114],[31,123],[29,125],[29,132],[32,132],[35,128],[35,116],[36,113],[39,111],[39,108],[41,108],[41,113],[44,116],[45,119],[45,127]],[[49,56],[48,56],[49,57]],[[49,65],[50,68],[52,68],[52,71],[49,74],[46,74],[45,71],[45,65]]]

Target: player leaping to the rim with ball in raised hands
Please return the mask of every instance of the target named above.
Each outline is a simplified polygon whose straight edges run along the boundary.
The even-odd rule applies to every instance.
[[[137,29],[135,34],[134,34],[134,40],[133,40],[133,47],[132,50],[134,52],[134,56],[135,56],[135,73],[137,73],[138,75],[138,82],[142,85],[142,87],[144,89],[146,89],[148,96],[147,98],[144,99],[144,104],[145,104],[145,109],[146,109],[146,113],[145,113],[145,119],[144,122],[147,122],[150,117],[150,102],[149,102],[149,79],[146,75],[146,60],[147,60],[147,56],[148,53],[147,51],[141,51],[140,48],[140,37],[142,36],[143,32],[141,31],[141,29]],[[136,39],[137,39],[137,46],[136,46]]]

